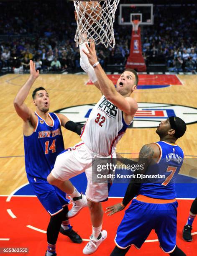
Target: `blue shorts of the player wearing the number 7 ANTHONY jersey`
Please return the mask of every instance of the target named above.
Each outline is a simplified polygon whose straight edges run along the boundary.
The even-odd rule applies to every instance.
[[[165,253],[171,253],[176,246],[177,207],[177,201],[154,204],[134,199],[118,227],[115,244],[123,249],[130,245],[140,249],[154,229],[160,247]]]

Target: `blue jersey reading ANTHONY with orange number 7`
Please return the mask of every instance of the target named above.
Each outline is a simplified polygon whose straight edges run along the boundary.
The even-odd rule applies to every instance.
[[[165,141],[156,142],[160,148],[160,157],[156,164],[148,166],[146,174],[159,174],[154,183],[141,184],[140,195],[158,199],[174,199],[175,180],[182,166],[184,152],[177,144],[171,145]],[[163,177],[161,177],[163,176]]]

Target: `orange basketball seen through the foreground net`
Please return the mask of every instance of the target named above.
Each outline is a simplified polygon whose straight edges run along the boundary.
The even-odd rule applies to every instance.
[[[79,7],[79,17],[81,17],[82,13],[84,13],[84,19],[82,23],[89,23],[92,25],[95,23],[95,21],[99,21],[101,18],[101,5],[96,1],[90,1],[88,3],[81,2],[81,5]]]

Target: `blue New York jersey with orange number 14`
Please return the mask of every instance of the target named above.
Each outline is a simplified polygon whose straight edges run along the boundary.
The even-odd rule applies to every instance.
[[[64,140],[61,121],[55,113],[49,113],[53,125],[48,125],[36,115],[35,131],[30,136],[24,136],[26,172],[32,177],[46,179],[54,168],[56,156],[64,150]]]

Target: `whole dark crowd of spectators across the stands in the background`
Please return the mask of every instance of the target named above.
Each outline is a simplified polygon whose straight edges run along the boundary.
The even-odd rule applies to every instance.
[[[25,72],[31,59],[41,72],[80,69],[72,2],[6,2],[0,2],[0,70],[17,68]],[[187,12],[185,8],[154,5],[154,26],[142,28],[147,66],[160,61],[169,71],[196,71],[197,5],[188,6]],[[116,21],[114,30],[114,49],[97,46],[104,68],[109,64],[125,65],[129,56],[131,26],[119,26]]]

